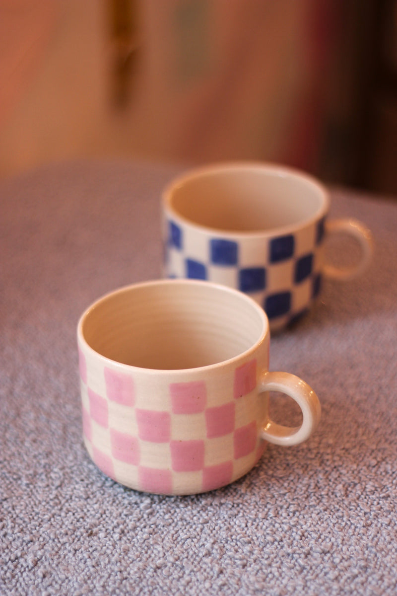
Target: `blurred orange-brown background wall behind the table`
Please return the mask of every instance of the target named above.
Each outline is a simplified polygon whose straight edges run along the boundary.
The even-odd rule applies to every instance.
[[[0,0],[0,176],[271,160],[397,193],[397,0]]]

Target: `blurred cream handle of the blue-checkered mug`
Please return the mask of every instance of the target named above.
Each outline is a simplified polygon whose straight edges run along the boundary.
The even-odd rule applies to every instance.
[[[357,219],[332,219],[326,221],[326,234],[348,234],[355,238],[360,244],[361,256],[357,265],[351,267],[335,267],[333,265],[324,265],[323,274],[332,280],[347,281],[360,275],[368,266],[373,252],[372,234]]]

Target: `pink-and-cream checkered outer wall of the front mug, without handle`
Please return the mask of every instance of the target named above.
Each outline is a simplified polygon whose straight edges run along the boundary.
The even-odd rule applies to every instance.
[[[79,353],[87,450],[117,482],[164,494],[210,491],[243,476],[261,457],[255,359],[230,367],[219,395],[219,381],[183,382],[172,371],[152,387],[142,370],[105,367],[98,380]]]

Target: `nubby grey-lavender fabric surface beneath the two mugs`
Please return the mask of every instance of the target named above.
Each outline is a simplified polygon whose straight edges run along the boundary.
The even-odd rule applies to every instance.
[[[82,442],[76,324],[160,276],[160,191],[176,169],[68,163],[0,185],[0,594],[396,594],[397,204],[332,193],[373,229],[373,265],[324,284],[271,340],[323,415],[219,491],[167,497],[102,474]],[[341,245],[336,256],[354,250]],[[272,398],[277,419],[297,417]]]

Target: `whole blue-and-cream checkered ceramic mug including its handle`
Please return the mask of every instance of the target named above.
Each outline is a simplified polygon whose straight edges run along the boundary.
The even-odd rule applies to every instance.
[[[367,267],[371,234],[353,219],[327,221],[329,195],[311,176],[283,166],[226,163],[185,173],[162,195],[164,277],[196,278],[248,293],[271,330],[310,307],[321,278],[347,280]],[[343,232],[359,262],[324,263],[324,238]]]

